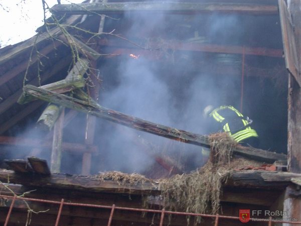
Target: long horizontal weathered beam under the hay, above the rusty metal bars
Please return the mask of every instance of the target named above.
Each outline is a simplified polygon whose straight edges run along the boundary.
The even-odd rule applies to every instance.
[[[74,189],[78,191],[93,191],[106,193],[128,193],[131,194],[160,194],[159,183],[156,180],[120,182],[114,180],[103,180],[99,175],[84,176],[84,175],[66,175],[66,174],[51,174],[51,176],[33,177],[31,174],[24,175],[15,173],[13,170],[0,169],[0,181],[22,184],[25,186],[41,186],[45,188],[57,189]],[[301,174],[286,173],[286,172],[269,172],[269,171],[234,171],[229,174],[229,180],[224,183],[224,186],[229,187],[249,187],[254,188],[273,188],[282,190],[293,185],[292,178],[301,178]]]

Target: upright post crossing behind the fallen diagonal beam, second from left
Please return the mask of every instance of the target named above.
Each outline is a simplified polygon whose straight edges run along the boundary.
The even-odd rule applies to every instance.
[[[92,86],[89,87],[90,96],[93,99],[98,99],[99,95],[99,82],[97,81],[97,74],[96,74],[96,62],[92,61],[90,70],[90,80]],[[85,133],[85,144],[87,146],[93,145],[94,142],[94,135],[95,135],[95,125],[96,125],[96,118],[95,116],[87,114],[87,122],[86,122],[86,133]],[[82,175],[88,175],[91,170],[91,153],[84,153],[83,160],[82,160]]]

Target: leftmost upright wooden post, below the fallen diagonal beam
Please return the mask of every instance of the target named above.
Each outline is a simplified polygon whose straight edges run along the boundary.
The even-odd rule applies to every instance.
[[[54,125],[50,166],[52,173],[59,173],[61,168],[64,115],[65,109],[63,108]]]

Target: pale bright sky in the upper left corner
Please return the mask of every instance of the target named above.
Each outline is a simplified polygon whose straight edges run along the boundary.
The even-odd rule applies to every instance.
[[[57,4],[57,0],[45,2],[50,8]],[[81,2],[61,1],[62,4]],[[43,25],[43,18],[42,0],[0,0],[0,45],[5,47],[31,38]]]

